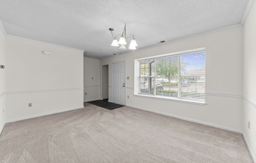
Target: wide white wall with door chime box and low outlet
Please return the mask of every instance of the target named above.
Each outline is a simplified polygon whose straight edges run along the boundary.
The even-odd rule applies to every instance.
[[[83,108],[83,51],[6,36],[5,54],[7,122]]]

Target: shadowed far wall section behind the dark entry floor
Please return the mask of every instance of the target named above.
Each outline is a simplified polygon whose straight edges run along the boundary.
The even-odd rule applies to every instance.
[[[84,102],[100,99],[100,60],[84,57]]]

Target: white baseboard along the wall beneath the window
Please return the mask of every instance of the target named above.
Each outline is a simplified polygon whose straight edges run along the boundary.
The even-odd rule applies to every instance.
[[[176,115],[173,115],[173,114],[167,114],[167,113],[163,113],[163,112],[149,110],[149,109],[145,109],[145,108],[141,108],[141,107],[136,107],[136,106],[132,106],[132,105],[126,105],[126,106],[133,107],[133,108],[136,108],[136,109],[146,110],[146,111],[149,111],[149,112],[154,112],[154,113],[157,113],[157,114],[162,114],[162,115],[165,115],[165,116],[170,116],[170,117],[178,118],[178,119],[185,120],[185,121],[195,122],[195,123],[199,123],[199,124],[202,124],[202,125],[216,127],[216,128],[223,129],[223,130],[229,130],[229,131],[232,131],[232,132],[238,132],[240,134],[243,133],[243,131],[241,131],[241,130],[233,129],[233,128],[225,127],[225,126],[221,126],[221,125],[216,125],[216,124],[213,124],[213,123],[208,123],[208,122],[204,122],[204,121],[198,121],[198,120],[194,120],[194,119],[190,119],[190,118],[185,118],[185,117],[176,116]]]

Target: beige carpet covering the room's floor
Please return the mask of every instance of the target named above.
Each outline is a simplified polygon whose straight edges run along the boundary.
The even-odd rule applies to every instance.
[[[0,163],[253,163],[241,134],[131,107],[7,123]]]

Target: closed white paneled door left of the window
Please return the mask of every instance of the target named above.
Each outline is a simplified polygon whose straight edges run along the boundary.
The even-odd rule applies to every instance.
[[[112,101],[125,105],[125,62],[113,63]]]

